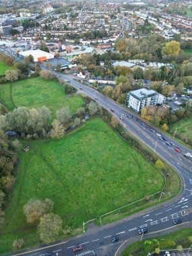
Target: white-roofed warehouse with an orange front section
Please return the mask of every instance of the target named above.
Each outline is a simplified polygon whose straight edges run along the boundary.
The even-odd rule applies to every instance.
[[[54,55],[52,53],[46,53],[41,50],[29,50],[29,51],[23,51],[20,53],[21,57],[27,57],[29,55],[32,55],[34,58],[34,62],[42,62],[47,61],[49,59],[54,59]]]

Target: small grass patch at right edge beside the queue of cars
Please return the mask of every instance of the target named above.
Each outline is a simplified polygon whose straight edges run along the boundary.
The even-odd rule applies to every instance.
[[[182,119],[181,121],[174,123],[170,129],[170,132],[174,133],[176,128],[176,135],[179,135],[181,138],[186,137],[188,140],[192,141],[192,118]]]

